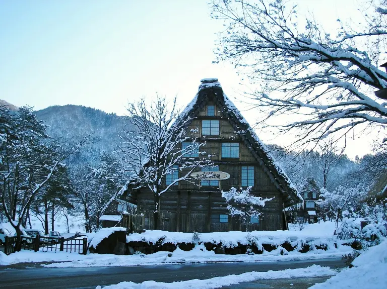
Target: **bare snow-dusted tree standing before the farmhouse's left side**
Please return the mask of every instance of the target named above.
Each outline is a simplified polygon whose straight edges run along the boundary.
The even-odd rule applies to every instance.
[[[200,152],[205,143],[198,143],[193,137],[195,130],[187,132],[192,119],[184,113],[179,116],[176,98],[170,107],[159,96],[150,106],[142,99],[130,104],[127,114],[131,128],[136,130],[122,132],[119,152],[127,169],[132,172],[131,184],[146,186],[155,194],[154,219],[157,226],[160,195],[179,181],[191,181],[191,172],[211,165],[210,156]],[[189,142],[189,145],[183,147],[183,142]],[[199,155],[200,159],[192,155]]]

